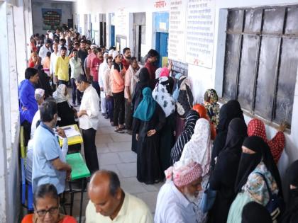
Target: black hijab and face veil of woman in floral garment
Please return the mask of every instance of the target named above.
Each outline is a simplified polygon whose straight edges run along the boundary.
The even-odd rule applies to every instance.
[[[260,164],[260,161],[263,161],[267,170],[270,171],[272,177],[277,183],[279,195],[282,196],[280,172],[278,171],[275,161],[273,160],[268,144],[261,137],[251,136],[244,140],[243,146],[255,151],[255,154],[241,154],[241,160],[236,178],[236,193],[241,191],[241,188],[243,185],[245,185],[250,173],[255,170],[258,164]]]

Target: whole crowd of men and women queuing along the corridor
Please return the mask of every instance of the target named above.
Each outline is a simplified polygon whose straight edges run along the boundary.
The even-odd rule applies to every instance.
[[[81,145],[68,146],[60,127],[77,124],[92,173],[87,223],[297,223],[298,161],[285,181],[277,169],[286,125],[267,139],[262,120],[245,123],[236,100],[220,107],[214,89],[194,104],[187,76],[173,72],[171,62],[156,67],[158,57],[149,50],[142,66],[128,47],[106,49],[72,29],[32,36],[18,96],[34,213],[22,222],[76,222],[62,215],[60,202],[72,171],[65,157]],[[154,217],[121,189],[116,173],[100,170],[100,115],[118,134],[131,135],[138,181],[164,182]]]

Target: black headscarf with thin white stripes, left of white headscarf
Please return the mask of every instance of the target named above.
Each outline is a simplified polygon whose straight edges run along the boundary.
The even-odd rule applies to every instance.
[[[190,138],[194,134],[194,127],[196,126],[196,122],[198,119],[199,113],[197,113],[197,111],[195,110],[189,110],[186,116],[183,131],[181,135],[178,137],[177,142],[171,150],[172,164],[175,164],[175,162],[180,160],[184,145],[187,144],[187,142],[189,142]]]

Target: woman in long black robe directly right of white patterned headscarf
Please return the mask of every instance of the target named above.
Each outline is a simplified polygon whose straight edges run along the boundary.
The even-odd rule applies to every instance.
[[[234,118],[228,125],[226,145],[217,157],[209,179],[210,188],[217,190],[214,206],[209,212],[210,223],[226,223],[228,210],[236,196],[235,180],[247,129],[241,118]]]

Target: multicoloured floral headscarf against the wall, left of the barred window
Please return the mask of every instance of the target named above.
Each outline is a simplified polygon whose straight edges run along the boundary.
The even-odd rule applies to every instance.
[[[204,106],[208,112],[211,122],[215,127],[219,124],[219,96],[214,89],[208,89],[204,94]]]

